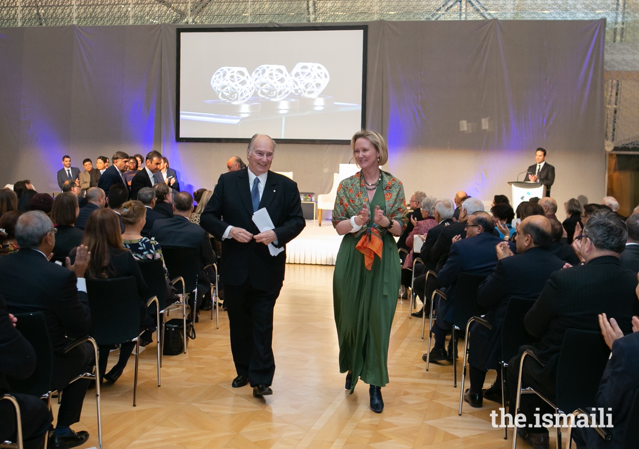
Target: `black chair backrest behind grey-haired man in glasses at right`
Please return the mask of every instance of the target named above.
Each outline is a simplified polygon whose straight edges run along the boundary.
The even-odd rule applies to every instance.
[[[557,407],[566,412],[594,407],[610,348],[596,331],[567,329],[557,363]]]

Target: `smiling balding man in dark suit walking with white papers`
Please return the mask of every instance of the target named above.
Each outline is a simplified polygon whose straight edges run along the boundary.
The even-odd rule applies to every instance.
[[[238,374],[232,386],[250,381],[254,396],[273,394],[273,308],[284,281],[284,248],[305,226],[297,184],[270,171],[274,153],[273,139],[254,135],[249,167],[220,176],[200,217],[200,225],[222,241],[220,276]],[[260,232],[252,222],[259,209],[266,209],[273,229]]]

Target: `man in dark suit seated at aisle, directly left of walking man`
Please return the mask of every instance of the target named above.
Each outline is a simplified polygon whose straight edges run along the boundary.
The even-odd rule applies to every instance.
[[[197,323],[197,310],[199,310],[203,297],[205,307],[208,308],[208,303],[212,303],[211,281],[215,279],[215,272],[212,268],[204,271],[204,266],[215,263],[217,256],[213,252],[211,241],[206,235],[206,231],[199,225],[189,222],[193,211],[193,197],[189,192],[175,194],[173,211],[174,217],[155,221],[153,229],[151,229],[151,235],[162,247],[195,248],[197,260],[199,261],[199,273],[197,275],[199,298],[196,298],[195,304],[190,301],[190,307],[192,311],[196,310],[196,314],[192,314],[191,317]]]

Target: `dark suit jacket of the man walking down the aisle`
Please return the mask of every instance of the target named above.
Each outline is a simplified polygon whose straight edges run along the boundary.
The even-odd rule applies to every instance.
[[[273,221],[277,247],[284,247],[306,225],[297,184],[281,174],[268,172],[259,208],[266,208]],[[251,220],[252,215],[249,172],[242,169],[220,176],[213,196],[200,216],[200,225],[222,241],[224,263],[220,275],[224,284],[242,285],[248,279],[256,289],[277,292],[284,281],[286,250],[272,256],[266,245],[255,240],[248,243],[233,238],[222,240],[229,225],[259,234]]]

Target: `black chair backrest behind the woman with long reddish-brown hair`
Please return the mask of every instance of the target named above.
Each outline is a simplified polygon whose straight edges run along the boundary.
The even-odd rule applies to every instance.
[[[140,328],[140,297],[132,276],[87,279],[86,291],[91,308],[89,335],[100,346],[135,339]]]

